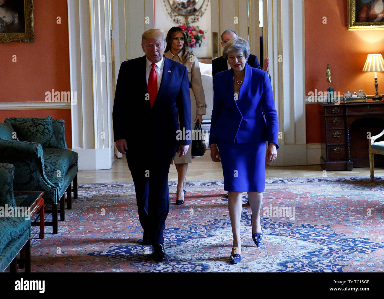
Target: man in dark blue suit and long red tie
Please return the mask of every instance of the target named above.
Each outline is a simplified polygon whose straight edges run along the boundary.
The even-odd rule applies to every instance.
[[[113,106],[114,141],[126,155],[136,191],[143,245],[152,245],[156,261],[164,261],[164,228],[169,211],[168,172],[176,152],[187,153],[190,140],[177,140],[190,130],[188,71],[166,58],[166,33],[142,35],[145,56],[124,61]],[[179,122],[178,122],[179,116]]]

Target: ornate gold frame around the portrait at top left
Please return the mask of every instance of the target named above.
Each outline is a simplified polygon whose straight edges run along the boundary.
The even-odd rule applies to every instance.
[[[12,28],[17,28],[17,24],[15,24],[13,27],[9,27],[5,25],[7,22],[3,20],[3,16],[0,16],[0,42],[8,43],[10,41],[23,41],[25,43],[33,43],[35,42],[33,0],[16,0],[14,2],[19,4],[20,11],[24,14],[24,20],[19,19],[19,24],[20,22],[23,22],[25,26],[21,32],[14,32],[15,29]],[[18,16],[22,15],[20,11],[17,11],[15,8],[14,13],[17,13]]]

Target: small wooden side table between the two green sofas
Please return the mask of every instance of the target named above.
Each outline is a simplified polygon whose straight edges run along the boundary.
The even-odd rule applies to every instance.
[[[44,239],[44,199],[43,191],[13,192],[17,206],[30,207],[31,219],[40,211],[40,222],[32,221],[31,225],[40,225],[39,238]],[[37,218],[36,218],[37,219]],[[35,220],[36,220],[35,219]]]

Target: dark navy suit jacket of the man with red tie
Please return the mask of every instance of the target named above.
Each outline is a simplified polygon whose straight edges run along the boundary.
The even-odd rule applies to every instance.
[[[190,130],[190,95],[187,68],[164,56],[164,68],[153,107],[147,95],[146,56],[124,61],[116,84],[113,105],[114,141],[126,139],[138,149],[151,144],[166,150],[175,144],[177,130]],[[180,140],[179,144],[190,144]],[[171,146],[172,145],[172,146]],[[175,152],[174,152],[175,153]]]

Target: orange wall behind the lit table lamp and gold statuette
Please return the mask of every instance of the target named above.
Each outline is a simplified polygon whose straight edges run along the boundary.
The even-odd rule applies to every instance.
[[[342,95],[346,90],[363,89],[374,94],[374,75],[362,72],[362,68],[367,54],[384,55],[384,30],[348,31],[346,0],[305,0],[304,3],[306,95],[315,89],[326,91],[328,63],[335,92]],[[327,18],[326,24],[323,17]],[[384,94],[384,73],[377,75],[379,93]],[[318,104],[306,105],[307,143],[325,142],[317,127],[321,116],[314,113],[318,109]]]

